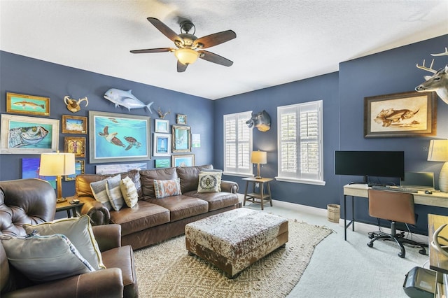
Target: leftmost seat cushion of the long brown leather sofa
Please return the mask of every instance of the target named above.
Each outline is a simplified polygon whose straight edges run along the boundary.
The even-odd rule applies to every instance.
[[[125,236],[169,222],[169,210],[148,201],[140,200],[135,208],[111,211],[111,222],[119,224],[121,235]]]

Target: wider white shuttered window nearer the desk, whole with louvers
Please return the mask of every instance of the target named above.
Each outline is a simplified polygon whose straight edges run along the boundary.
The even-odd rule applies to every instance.
[[[277,108],[277,180],[325,185],[323,181],[322,101]]]

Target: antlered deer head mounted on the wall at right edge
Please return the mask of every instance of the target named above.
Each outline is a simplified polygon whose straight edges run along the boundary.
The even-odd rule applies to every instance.
[[[444,52],[439,54],[431,54],[431,56],[448,56],[448,48],[445,48]],[[423,60],[423,64],[416,64],[417,69],[423,69],[424,71],[429,71],[434,73],[433,76],[424,76],[425,82],[421,83],[417,87],[415,87],[415,91],[417,92],[432,92],[435,91],[437,95],[444,101],[445,104],[448,104],[448,64],[445,65],[442,69],[436,71],[433,69],[434,59],[431,62],[429,67],[425,66],[425,60]]]

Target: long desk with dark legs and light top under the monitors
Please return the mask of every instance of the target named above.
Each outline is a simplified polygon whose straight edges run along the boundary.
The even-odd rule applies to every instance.
[[[347,240],[347,228],[350,227],[352,231],[355,230],[355,200],[354,197],[368,198],[368,187],[365,184],[347,184],[344,185],[344,240]],[[346,197],[351,196],[351,220],[346,223]],[[436,206],[448,208],[448,193],[447,192],[433,192],[433,194],[425,194],[425,192],[418,192],[414,194],[414,204]]]

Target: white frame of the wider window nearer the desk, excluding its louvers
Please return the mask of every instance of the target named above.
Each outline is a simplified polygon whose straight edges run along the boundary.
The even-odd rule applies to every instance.
[[[303,109],[311,108],[311,111],[313,109],[313,106],[315,106],[314,111],[318,112],[318,135],[317,135],[317,143],[318,143],[318,162],[319,162],[319,169],[318,173],[316,174],[316,178],[307,178],[301,176],[300,173],[300,148],[301,144],[304,143],[304,141],[300,140],[300,111]],[[296,152],[296,158],[297,158],[297,169],[295,173],[291,173],[290,175],[285,175],[282,173],[281,168],[281,145],[284,141],[281,140],[281,116],[284,113],[291,113],[290,111],[293,111],[295,113],[297,126],[295,129],[295,144],[297,148]],[[277,175],[275,177],[276,180],[283,181],[283,182],[290,182],[290,183],[304,183],[304,184],[312,184],[312,185],[325,185],[325,180],[323,178],[323,101],[307,101],[300,104],[291,104],[288,106],[278,106],[277,107],[277,149],[278,149],[278,169],[277,169]]]

